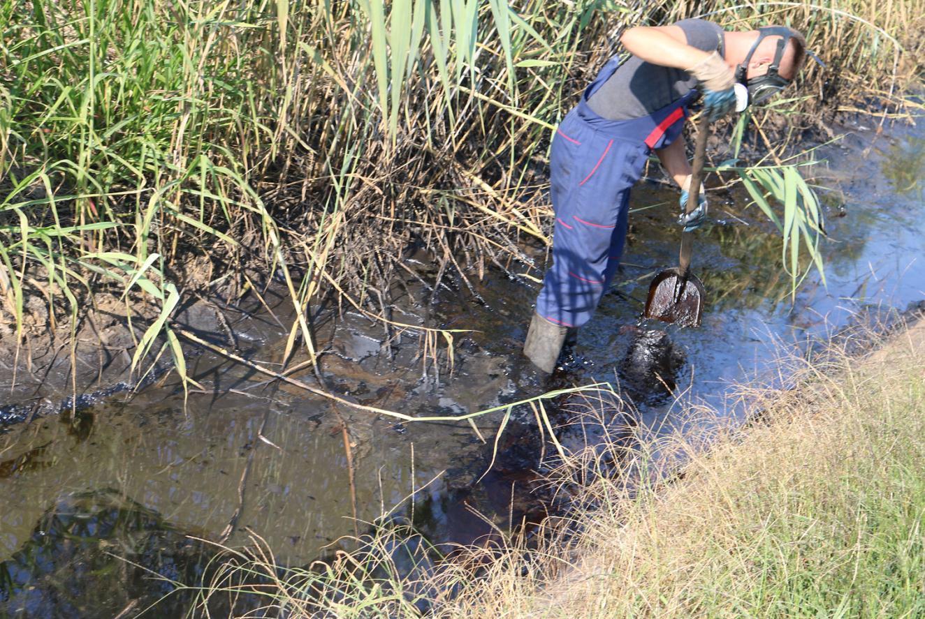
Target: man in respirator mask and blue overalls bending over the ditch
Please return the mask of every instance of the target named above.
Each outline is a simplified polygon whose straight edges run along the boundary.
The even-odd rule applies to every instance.
[[[678,223],[697,228],[707,217],[702,191],[697,209],[683,214],[691,166],[678,138],[688,105],[700,97],[710,120],[742,111],[783,90],[806,55],[796,30],[726,32],[702,19],[631,28],[620,41],[632,56],[611,58],[552,140],[552,266],[524,343],[524,355],[548,373],[568,330],[591,318],[617,270],[630,188],[649,152],[681,188]]]

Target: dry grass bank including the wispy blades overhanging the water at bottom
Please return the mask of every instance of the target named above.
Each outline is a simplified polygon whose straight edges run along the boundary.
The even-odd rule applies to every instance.
[[[550,482],[574,508],[534,531],[538,547],[499,531],[500,546],[440,561],[380,526],[296,569],[255,539],[228,552],[203,608],[243,591],[299,617],[922,616],[925,321],[894,333],[785,359],[797,387],[744,387],[746,427],[701,407],[684,432],[637,429],[633,451],[571,455]]]

